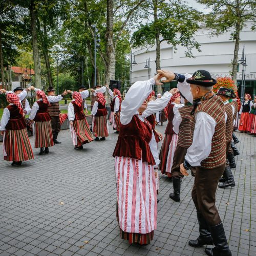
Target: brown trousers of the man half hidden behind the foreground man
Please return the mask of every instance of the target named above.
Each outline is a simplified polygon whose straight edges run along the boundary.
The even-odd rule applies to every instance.
[[[177,145],[176,150],[174,152],[173,166],[170,171],[172,173],[172,177],[183,179],[184,176],[180,172],[180,165],[184,162],[186,154],[187,154],[187,148]],[[196,168],[191,167],[190,170],[191,170],[191,175],[195,176]]]

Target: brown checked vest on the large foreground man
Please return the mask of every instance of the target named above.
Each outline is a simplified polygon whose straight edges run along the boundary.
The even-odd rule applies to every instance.
[[[225,135],[225,112],[224,112],[224,104],[222,100],[210,92],[204,96],[201,103],[198,104],[195,114],[191,116],[191,136],[194,135],[195,116],[197,112],[203,111],[207,113],[209,116],[214,118],[216,121],[215,133],[211,139],[211,152],[209,156],[201,162],[201,166],[205,169],[213,169],[221,166],[226,162],[226,138]]]

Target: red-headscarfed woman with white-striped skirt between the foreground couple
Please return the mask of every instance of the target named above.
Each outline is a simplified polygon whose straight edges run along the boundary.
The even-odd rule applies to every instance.
[[[170,98],[168,105],[164,108],[164,112],[166,117],[168,118],[168,123],[165,129],[165,136],[161,146],[159,159],[159,170],[161,170],[162,174],[167,175],[167,177],[171,178],[171,170],[173,165],[173,157],[175,148],[178,142],[178,135],[173,130],[173,119],[174,119],[174,109],[181,108],[183,104],[176,104],[173,102],[176,98],[180,97],[179,93],[176,93]]]

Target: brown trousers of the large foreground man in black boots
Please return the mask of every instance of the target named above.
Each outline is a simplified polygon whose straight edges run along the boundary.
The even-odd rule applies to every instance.
[[[215,206],[215,194],[226,163],[214,169],[196,167],[196,176],[192,189],[192,199],[209,226],[221,223],[218,209]]]

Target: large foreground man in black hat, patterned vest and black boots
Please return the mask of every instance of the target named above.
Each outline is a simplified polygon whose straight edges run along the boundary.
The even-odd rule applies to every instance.
[[[193,142],[187,149],[181,173],[187,176],[190,166],[196,167],[192,199],[197,209],[199,237],[189,245],[206,248],[207,255],[231,255],[224,227],[215,205],[215,193],[226,166],[225,111],[222,100],[212,92],[216,83],[209,72],[197,70],[191,78],[168,71],[158,71],[168,82],[176,77],[179,82],[190,84],[194,108],[191,112]]]

